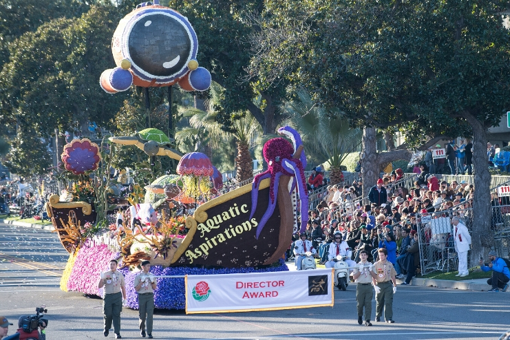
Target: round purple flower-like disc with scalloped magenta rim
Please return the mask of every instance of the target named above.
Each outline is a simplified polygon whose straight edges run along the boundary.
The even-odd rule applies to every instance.
[[[72,140],[72,142],[65,145],[62,160],[65,164],[65,169],[72,171],[75,175],[81,175],[85,171],[96,170],[101,160],[99,147],[88,138]]]

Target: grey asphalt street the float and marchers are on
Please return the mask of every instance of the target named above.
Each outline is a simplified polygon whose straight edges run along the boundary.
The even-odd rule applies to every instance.
[[[55,233],[0,224],[0,315],[17,323],[45,304],[47,339],[106,339],[101,299],[59,288],[68,254]],[[359,326],[356,286],[334,292],[334,307],[186,315],[157,310],[155,339],[498,339],[510,329],[503,293],[399,286],[395,323]],[[372,303],[372,319],[375,301]],[[138,311],[124,308],[123,339],[141,339]],[[14,333],[14,326],[8,334]],[[113,339],[113,330],[107,339]]]

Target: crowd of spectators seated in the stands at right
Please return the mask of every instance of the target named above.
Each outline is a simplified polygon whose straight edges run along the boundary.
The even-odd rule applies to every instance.
[[[422,216],[458,216],[470,224],[473,184],[465,180],[452,180],[450,183],[438,180],[434,173],[429,173],[426,164],[419,167],[412,187],[403,187],[399,182],[401,178],[403,171],[397,169],[379,179],[368,194],[370,204],[361,204],[363,201],[359,199],[361,179],[355,180],[352,185],[328,187],[323,201],[308,212],[306,230],[321,263],[327,262],[328,247],[334,242],[334,235],[339,233],[352,248],[352,260],[356,262],[363,249],[370,254],[369,260],[375,261],[377,249],[386,248],[388,261],[395,265],[397,275],[409,284],[420,261],[415,242],[418,241],[418,222],[421,222]],[[504,213],[510,213],[505,210],[510,204],[508,201],[509,198],[491,194],[491,204],[501,206],[492,209],[493,228],[496,229],[497,224],[502,222]],[[425,229],[422,237],[427,244],[435,242],[430,228]],[[445,240],[441,240],[443,246],[448,246],[452,235],[444,237]],[[295,235],[294,240],[299,240],[299,235]]]

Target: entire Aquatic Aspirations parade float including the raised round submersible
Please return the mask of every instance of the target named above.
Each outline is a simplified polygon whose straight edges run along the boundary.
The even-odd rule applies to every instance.
[[[117,67],[100,77],[111,94],[131,85],[168,86],[170,91],[178,84],[203,91],[211,83],[209,72],[198,67],[191,24],[157,1],[142,3],[120,21],[111,48]],[[89,140],[66,145],[62,160],[72,185],[47,204],[55,232],[70,253],[61,289],[102,296],[100,272],[118,259],[127,306],[138,308],[133,282],[142,260],[149,259],[151,272],[164,276],[158,279],[156,308],[183,309],[184,275],[288,270],[284,253],[308,220],[306,158],[295,130],[284,127],[279,133],[287,139],[264,145],[268,170],[252,184],[221,195],[222,176],[209,158],[197,152],[182,156],[158,129],[110,137],[101,146]],[[179,160],[177,174],[144,188],[135,184],[126,198],[118,197],[107,160],[116,144]]]

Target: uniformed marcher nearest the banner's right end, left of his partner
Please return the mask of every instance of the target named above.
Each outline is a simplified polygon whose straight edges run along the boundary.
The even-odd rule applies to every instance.
[[[367,261],[368,251],[363,249],[359,252],[361,261],[357,268],[354,268],[353,278],[356,285],[356,301],[358,309],[358,323],[363,324],[363,307],[365,308],[365,326],[372,326],[370,323],[370,315],[372,315],[372,278],[375,278],[375,273],[372,270],[372,264]]]

